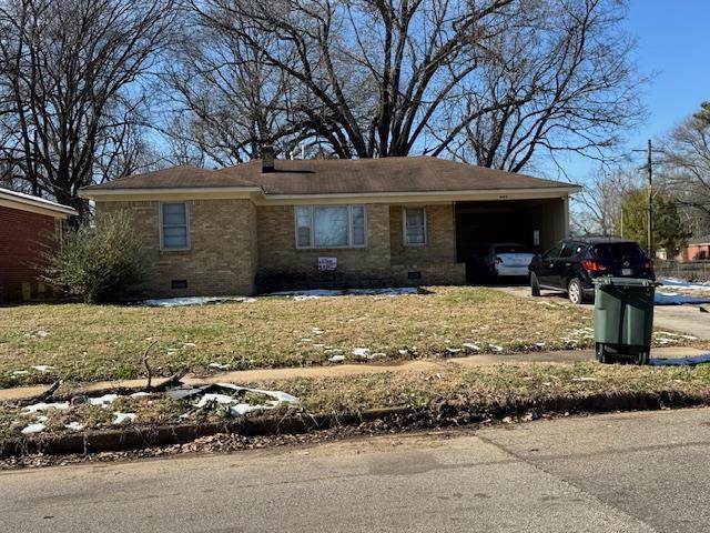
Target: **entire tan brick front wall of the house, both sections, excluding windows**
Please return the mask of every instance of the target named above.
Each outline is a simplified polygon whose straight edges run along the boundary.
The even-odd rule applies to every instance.
[[[144,295],[465,282],[464,265],[455,262],[452,205],[427,208],[427,245],[419,249],[402,245],[399,207],[368,204],[366,248],[300,250],[293,205],[254,207],[248,200],[189,203],[187,251],[160,250],[159,202],[100,202],[97,207],[99,217],[119,209],[132,213],[146,274],[136,289]],[[336,258],[336,271],[320,271],[322,257]],[[186,280],[187,289],[171,289],[172,280]]]

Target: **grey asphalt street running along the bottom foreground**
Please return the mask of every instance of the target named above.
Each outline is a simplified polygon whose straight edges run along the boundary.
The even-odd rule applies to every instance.
[[[0,473],[7,532],[702,532],[710,410]]]

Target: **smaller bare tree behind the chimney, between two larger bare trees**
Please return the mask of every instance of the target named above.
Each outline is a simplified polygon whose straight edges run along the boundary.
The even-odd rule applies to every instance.
[[[237,14],[229,19],[234,30],[230,32],[213,23],[222,12],[191,14],[186,38],[173,51],[162,77],[173,103],[170,125],[163,129],[178,149],[173,159],[184,159],[179,153],[196,149],[224,167],[258,157],[264,143],[283,147],[294,133],[287,103],[297,86],[270,66],[261,51],[274,47],[274,36],[248,28]],[[240,38],[242,32],[248,32],[257,46]]]

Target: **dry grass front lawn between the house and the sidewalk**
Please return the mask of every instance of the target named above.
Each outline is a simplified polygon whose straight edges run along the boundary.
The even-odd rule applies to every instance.
[[[590,348],[591,313],[481,288],[185,308],[38,304],[0,308],[0,386],[373,360]],[[45,368],[47,365],[49,368]],[[33,369],[38,366],[39,369]]]

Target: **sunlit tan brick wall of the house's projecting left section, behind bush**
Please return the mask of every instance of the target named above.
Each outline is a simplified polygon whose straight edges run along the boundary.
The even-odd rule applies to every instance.
[[[99,217],[126,210],[141,240],[145,295],[252,294],[256,272],[255,209],[248,200],[191,200],[190,244],[185,251],[160,249],[159,202],[100,202]],[[100,218],[99,218],[100,223]],[[186,289],[172,289],[185,280]]]

